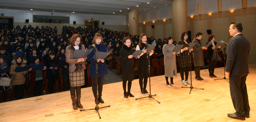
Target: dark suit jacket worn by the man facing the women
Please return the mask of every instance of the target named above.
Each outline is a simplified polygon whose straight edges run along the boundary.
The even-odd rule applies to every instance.
[[[227,50],[226,72],[230,75],[245,75],[249,73],[248,57],[250,42],[243,34],[230,38]]]

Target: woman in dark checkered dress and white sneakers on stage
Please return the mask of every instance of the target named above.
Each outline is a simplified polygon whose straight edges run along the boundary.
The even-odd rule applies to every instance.
[[[183,32],[181,34],[180,41],[178,42],[178,44],[184,45],[182,47],[182,49],[180,50],[179,66],[180,66],[181,84],[186,86],[187,84],[191,85],[190,81],[188,80],[188,72],[189,72],[189,55],[188,55],[188,52],[191,52],[193,50],[193,48],[188,50],[189,46],[184,43],[185,41],[189,44],[188,33],[187,32]],[[184,79],[184,72],[185,72],[185,78],[186,79]]]

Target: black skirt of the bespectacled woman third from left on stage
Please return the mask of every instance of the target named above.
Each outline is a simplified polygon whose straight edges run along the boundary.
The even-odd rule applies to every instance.
[[[133,81],[134,65],[122,65],[123,81]]]

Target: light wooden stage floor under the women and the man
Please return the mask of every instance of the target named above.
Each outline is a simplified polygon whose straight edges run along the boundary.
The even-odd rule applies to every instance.
[[[250,73],[247,77],[249,104],[251,107],[250,118],[245,121],[256,121],[256,64],[249,65]],[[201,89],[193,89],[189,94],[189,88],[181,88],[180,74],[174,77],[176,87],[168,88],[164,76],[151,78],[151,91],[155,99],[135,98],[146,97],[140,94],[138,79],[132,82],[131,93],[134,98],[124,98],[122,82],[106,84],[103,86],[104,104],[99,107],[101,119],[95,110],[73,110],[70,92],[59,92],[39,97],[14,100],[0,103],[0,121],[242,121],[227,117],[228,113],[234,113],[234,107],[230,97],[229,83],[225,80],[217,80],[224,77],[224,69],[216,68],[217,78],[210,78],[208,69],[201,70],[202,81],[195,80],[192,72],[193,86]],[[190,79],[190,75],[189,75]],[[170,80],[170,79],[169,79]],[[188,86],[189,87],[189,86]],[[149,83],[147,84],[149,91]],[[37,98],[43,98],[36,100]],[[209,99],[210,101],[205,101]],[[91,87],[82,89],[81,103],[83,109],[95,108]],[[47,114],[53,116],[45,117]]]

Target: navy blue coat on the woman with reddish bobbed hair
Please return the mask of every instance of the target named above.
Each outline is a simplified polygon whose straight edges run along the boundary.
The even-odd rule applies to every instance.
[[[89,46],[89,49],[92,49],[92,45]],[[96,46],[97,48],[97,46]],[[98,49],[98,48],[97,48]],[[105,44],[100,44],[100,52],[107,52],[107,47]],[[96,74],[95,74],[95,64],[94,64],[94,50],[92,51],[91,54],[89,54],[87,56],[87,60],[91,62],[91,65],[90,65],[90,70],[89,70],[89,76],[91,77],[96,77]],[[107,60],[107,57],[104,59],[104,63],[101,63],[98,62],[98,77],[101,77],[103,75],[107,75],[107,66],[106,66],[106,60]]]

